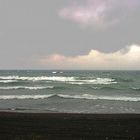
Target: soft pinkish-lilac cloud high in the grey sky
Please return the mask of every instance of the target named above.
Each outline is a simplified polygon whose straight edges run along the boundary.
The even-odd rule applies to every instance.
[[[61,9],[59,16],[80,25],[106,27],[120,22],[139,4],[139,0],[85,0]]]

